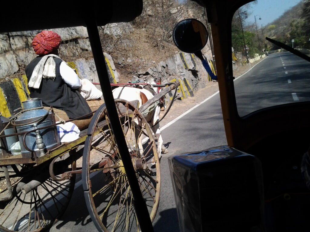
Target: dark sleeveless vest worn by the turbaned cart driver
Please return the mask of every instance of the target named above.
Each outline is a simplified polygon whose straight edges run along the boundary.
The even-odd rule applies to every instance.
[[[34,58],[26,67],[25,72],[28,82],[34,67],[41,59],[42,57],[39,56]],[[62,79],[59,71],[62,60],[59,58],[53,59],[56,63],[56,78],[54,80],[42,78],[40,88],[29,88],[30,97],[42,98],[44,106],[53,106],[56,109],[64,110],[70,119],[90,113],[91,109],[78,90],[70,88]]]

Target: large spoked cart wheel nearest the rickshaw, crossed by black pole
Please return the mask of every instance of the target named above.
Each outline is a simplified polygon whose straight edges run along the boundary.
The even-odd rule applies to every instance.
[[[124,100],[116,101],[121,112],[120,122],[136,176],[150,218],[153,221],[159,204],[160,170],[153,133],[142,114]],[[105,140],[98,146],[89,145],[97,134]],[[109,124],[105,105],[94,115],[85,142],[82,180],[86,205],[99,231],[139,231],[134,200],[126,172]],[[149,139],[141,146],[143,138]],[[94,164],[92,160],[101,157]],[[152,165],[152,159],[155,165]]]

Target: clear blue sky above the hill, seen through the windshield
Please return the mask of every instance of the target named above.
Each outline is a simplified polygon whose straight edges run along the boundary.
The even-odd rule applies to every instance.
[[[246,21],[254,23],[254,15],[259,15],[261,20],[259,20],[259,16],[256,16],[256,23],[257,27],[260,28],[262,24],[267,25],[268,23],[271,23],[286,10],[289,10],[292,6],[295,6],[301,1],[302,0],[256,0],[256,4],[248,3],[251,6],[249,12],[252,12],[252,14],[249,15],[249,18]],[[265,25],[263,25],[263,27]]]

